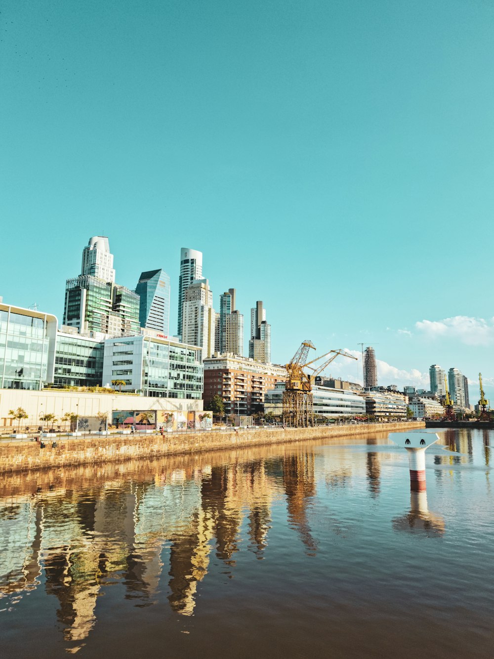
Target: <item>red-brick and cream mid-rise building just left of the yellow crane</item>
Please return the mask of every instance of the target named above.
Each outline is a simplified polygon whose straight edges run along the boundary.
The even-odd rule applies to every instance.
[[[285,383],[286,379],[287,371],[277,364],[263,364],[232,354],[205,359],[204,404],[219,395],[227,414],[260,412],[266,391],[277,382]]]

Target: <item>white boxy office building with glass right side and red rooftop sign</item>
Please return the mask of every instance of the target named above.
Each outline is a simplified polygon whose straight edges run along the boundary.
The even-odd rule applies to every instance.
[[[122,380],[122,391],[150,397],[201,399],[202,348],[162,339],[152,330],[143,331],[142,335],[105,341],[103,386]]]

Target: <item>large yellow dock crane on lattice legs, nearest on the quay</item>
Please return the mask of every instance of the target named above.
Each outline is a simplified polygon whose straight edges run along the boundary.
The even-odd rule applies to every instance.
[[[285,364],[287,369],[287,382],[285,391],[283,391],[283,421],[295,428],[314,426],[314,398],[312,396],[312,384],[319,373],[323,372],[328,364],[338,355],[356,359],[353,355],[346,353],[344,350],[330,350],[329,352],[307,361],[309,351],[316,347],[312,341],[302,341],[302,345],[290,362]],[[315,362],[327,358],[319,366],[311,366]],[[304,368],[310,368],[312,373],[306,373]]]

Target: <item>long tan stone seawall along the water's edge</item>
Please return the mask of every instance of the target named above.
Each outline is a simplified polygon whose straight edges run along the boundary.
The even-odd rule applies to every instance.
[[[351,438],[377,432],[393,432],[424,428],[422,422],[359,424],[333,428],[264,428],[238,432],[202,432],[148,436],[111,436],[109,438],[57,438],[57,446],[47,442],[41,448],[35,442],[11,442],[0,445],[0,473],[28,469],[49,469],[69,465],[160,457],[179,453],[198,453],[218,449],[253,447],[263,444],[285,444],[328,438]]]

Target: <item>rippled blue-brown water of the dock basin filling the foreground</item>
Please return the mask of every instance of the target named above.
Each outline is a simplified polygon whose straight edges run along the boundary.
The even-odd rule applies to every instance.
[[[493,435],[380,437],[4,477],[1,656],[492,656]]]

